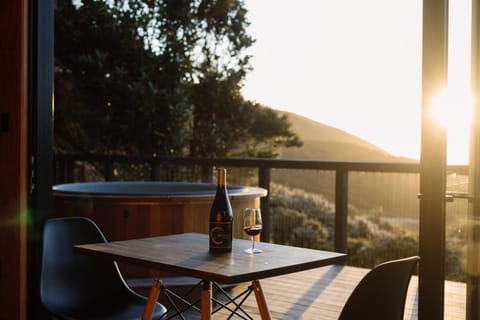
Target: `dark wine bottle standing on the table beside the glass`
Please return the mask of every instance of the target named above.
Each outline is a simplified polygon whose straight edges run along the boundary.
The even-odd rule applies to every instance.
[[[210,209],[210,252],[232,251],[233,213],[227,192],[227,170],[219,168],[217,192]]]

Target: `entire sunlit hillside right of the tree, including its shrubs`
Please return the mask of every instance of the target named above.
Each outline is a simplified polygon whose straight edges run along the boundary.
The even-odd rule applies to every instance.
[[[292,129],[302,148],[282,150],[281,157],[303,160],[412,162],[342,130],[293,113]],[[335,173],[272,170],[270,193],[275,243],[332,249]],[[449,190],[465,191],[466,178],[449,176]],[[348,264],[371,267],[380,261],[418,252],[420,177],[407,173],[350,172],[348,176]],[[464,231],[467,202],[447,205],[446,277],[465,281]],[[455,207],[454,207],[455,206]],[[453,209],[453,210],[452,210]]]

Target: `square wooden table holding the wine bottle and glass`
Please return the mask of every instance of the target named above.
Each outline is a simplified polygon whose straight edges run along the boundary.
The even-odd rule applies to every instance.
[[[252,282],[262,319],[270,319],[259,279],[342,263],[345,254],[258,242],[260,254],[246,254],[251,241],[234,239],[227,254],[211,254],[208,235],[184,233],[161,237],[77,245],[78,253],[155,268],[203,280],[201,318],[210,319],[212,282]]]

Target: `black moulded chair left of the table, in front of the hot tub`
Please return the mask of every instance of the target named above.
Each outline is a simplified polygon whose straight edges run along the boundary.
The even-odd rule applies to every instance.
[[[106,242],[92,220],[47,220],[43,237],[40,298],[53,319],[142,318],[147,298],[128,287],[115,262],[72,251],[76,244]],[[157,302],[153,319],[165,312]]]

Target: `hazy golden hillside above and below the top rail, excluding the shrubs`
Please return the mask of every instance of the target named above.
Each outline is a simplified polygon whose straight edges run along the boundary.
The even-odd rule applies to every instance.
[[[301,148],[282,149],[280,158],[327,161],[411,162],[337,128],[287,113],[292,129],[303,140]],[[387,216],[414,217],[418,212],[418,175],[361,172],[349,176],[350,204],[362,209],[381,208]],[[323,195],[334,201],[335,173],[312,170],[273,170],[272,181]]]

